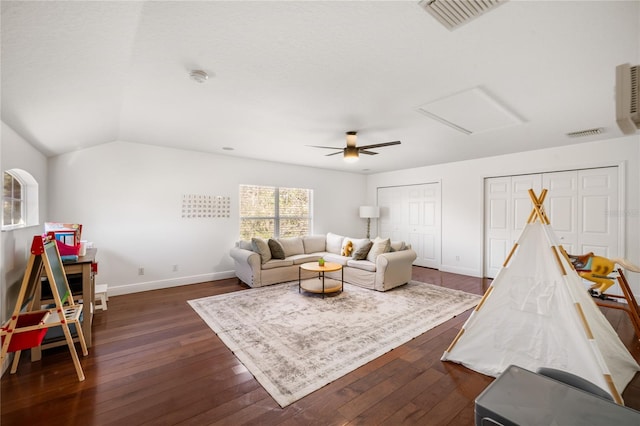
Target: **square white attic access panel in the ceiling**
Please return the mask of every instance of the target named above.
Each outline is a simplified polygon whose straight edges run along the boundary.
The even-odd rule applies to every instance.
[[[479,87],[426,103],[417,110],[467,135],[524,122]]]

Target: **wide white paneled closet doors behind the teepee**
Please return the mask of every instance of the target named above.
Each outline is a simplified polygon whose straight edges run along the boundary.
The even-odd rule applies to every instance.
[[[533,208],[530,188],[537,195],[547,189],[545,212],[558,243],[568,253],[619,256],[620,218],[616,213],[621,207],[617,167],[487,178],[486,277],[496,276],[522,233]]]

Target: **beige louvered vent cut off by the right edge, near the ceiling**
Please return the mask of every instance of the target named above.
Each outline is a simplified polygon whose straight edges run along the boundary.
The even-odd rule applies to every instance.
[[[616,121],[625,135],[640,129],[640,65],[616,67]]]

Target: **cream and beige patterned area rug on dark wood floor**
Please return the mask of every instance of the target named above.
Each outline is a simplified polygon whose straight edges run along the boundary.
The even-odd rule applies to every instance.
[[[412,281],[327,296],[297,282],[188,303],[281,407],[474,307],[480,296]]]

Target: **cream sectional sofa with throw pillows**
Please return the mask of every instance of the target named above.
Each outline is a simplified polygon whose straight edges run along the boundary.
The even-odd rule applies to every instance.
[[[371,246],[366,238],[350,238],[328,233],[278,238],[268,242],[258,238],[239,241],[231,249],[230,255],[235,263],[236,276],[250,287],[297,280],[301,264],[316,262],[321,257],[326,262],[341,264],[344,281],[360,287],[386,291],[411,280],[411,266],[416,259],[416,253],[411,246],[404,242],[377,238],[371,241],[373,246],[365,253],[366,257],[359,259],[353,255],[342,255],[347,241],[353,243],[353,255],[358,253],[359,258],[367,246]],[[265,244],[275,244],[275,247],[272,245],[265,249]],[[273,254],[278,258],[274,259]],[[301,272],[303,279],[315,276],[313,272]],[[327,277],[340,279],[342,272],[328,272]]]

